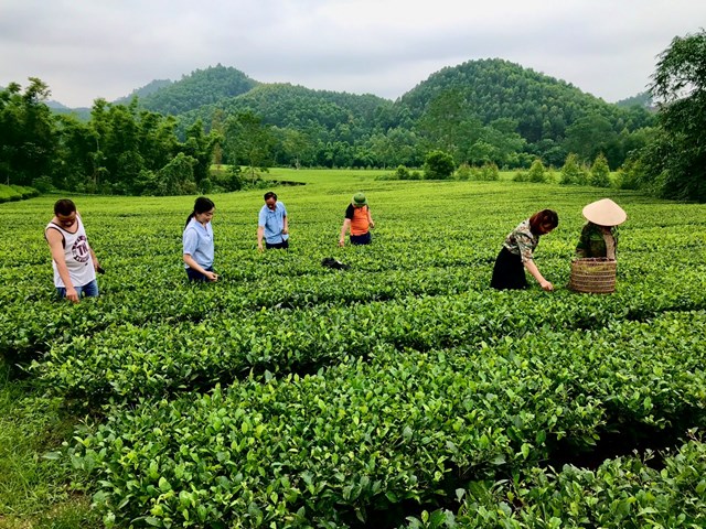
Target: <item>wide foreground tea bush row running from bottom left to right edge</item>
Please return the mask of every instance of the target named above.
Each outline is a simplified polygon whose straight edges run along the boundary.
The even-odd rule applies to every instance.
[[[606,432],[703,428],[704,331],[706,313],[675,313],[474,348],[381,346],[318,375],[115,409],[68,453],[108,520],[346,527]]]

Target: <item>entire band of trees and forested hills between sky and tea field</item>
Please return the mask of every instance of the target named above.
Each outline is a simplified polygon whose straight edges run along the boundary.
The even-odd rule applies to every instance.
[[[217,65],[71,112],[50,108],[50,87],[32,77],[0,91],[0,183],[192,194],[253,185],[263,168],[393,172],[442,153],[454,170],[600,160],[621,170],[623,187],[704,202],[705,42],[703,30],[675,37],[650,91],[621,105],[499,58],[442,68],[395,101],[258,83]],[[652,98],[656,107],[645,105]],[[212,164],[236,169],[213,173]]]

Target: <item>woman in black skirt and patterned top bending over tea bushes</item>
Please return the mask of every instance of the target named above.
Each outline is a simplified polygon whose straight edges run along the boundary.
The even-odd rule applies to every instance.
[[[493,278],[490,285],[498,290],[517,290],[528,287],[525,268],[544,290],[554,290],[554,285],[544,279],[534,263],[533,252],[539,244],[539,237],[559,225],[559,216],[552,209],[543,209],[520,223],[505,238],[503,248],[495,259]]]

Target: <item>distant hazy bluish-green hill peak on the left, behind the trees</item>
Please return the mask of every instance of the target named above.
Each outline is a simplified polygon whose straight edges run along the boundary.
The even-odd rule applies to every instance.
[[[257,85],[256,80],[243,72],[218,64],[206,69],[196,69],[183,76],[181,80],[170,83],[145,97],[138,97],[138,100],[139,105],[148,110],[176,116],[245,94]]]

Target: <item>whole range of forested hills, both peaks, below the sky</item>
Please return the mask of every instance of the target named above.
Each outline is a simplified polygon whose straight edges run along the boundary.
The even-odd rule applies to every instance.
[[[624,138],[654,125],[646,94],[609,104],[565,80],[501,58],[445,67],[395,101],[371,94],[260,83],[221,64],[176,82],[153,80],[114,102],[128,104],[135,98],[139,109],[178,117],[182,137],[196,122],[206,130],[221,129],[229,117],[250,112],[274,131],[304,134],[319,151],[331,152],[338,143],[349,148],[370,144],[379,134],[414,144],[421,133],[436,138],[437,144],[514,142],[507,148],[542,154],[556,163],[565,155],[558,145],[576,127],[599,131],[596,134],[602,139],[593,140],[603,143],[608,137]],[[73,112],[89,117],[89,109]],[[614,156],[616,161],[622,158],[624,153]]]

